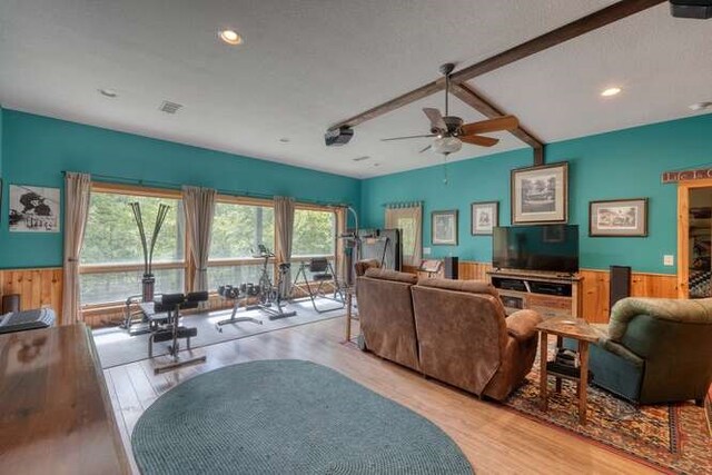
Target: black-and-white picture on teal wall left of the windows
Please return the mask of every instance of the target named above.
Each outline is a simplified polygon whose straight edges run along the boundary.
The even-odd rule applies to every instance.
[[[11,232],[59,232],[59,188],[10,185]]]

